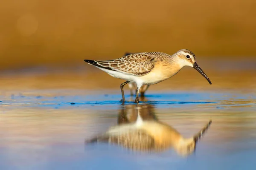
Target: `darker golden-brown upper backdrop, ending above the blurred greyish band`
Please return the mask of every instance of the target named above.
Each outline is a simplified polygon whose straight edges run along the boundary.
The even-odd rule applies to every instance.
[[[0,69],[182,48],[254,59],[255,8],[255,0],[3,0]]]

